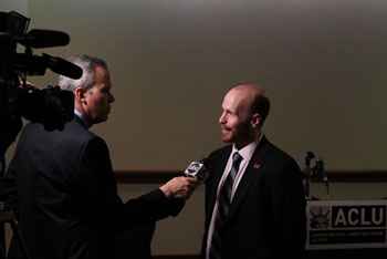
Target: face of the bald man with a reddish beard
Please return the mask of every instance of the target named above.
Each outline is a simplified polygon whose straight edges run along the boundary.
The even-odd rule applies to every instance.
[[[242,91],[230,90],[226,94],[219,124],[222,142],[244,146],[251,141],[249,102]]]

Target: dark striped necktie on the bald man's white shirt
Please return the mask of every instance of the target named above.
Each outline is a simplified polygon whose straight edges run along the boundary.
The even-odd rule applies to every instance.
[[[221,258],[221,235],[223,224],[229,215],[230,205],[231,205],[231,193],[233,182],[237,177],[239,166],[243,157],[236,152],[232,155],[232,166],[229,175],[227,176],[222,187],[220,188],[218,196],[218,214],[215,218],[213,232],[211,247],[209,252],[209,259],[220,259]]]

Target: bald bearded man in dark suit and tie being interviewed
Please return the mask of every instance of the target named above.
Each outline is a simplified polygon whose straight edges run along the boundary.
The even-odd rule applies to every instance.
[[[269,99],[254,84],[222,102],[221,139],[206,165],[206,259],[302,258],[305,198],[296,162],[262,133]]]

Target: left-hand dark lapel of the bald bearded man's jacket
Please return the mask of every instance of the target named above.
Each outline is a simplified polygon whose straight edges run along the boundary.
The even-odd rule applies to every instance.
[[[226,149],[222,153],[220,153],[219,158],[216,160],[215,169],[212,170],[213,178],[212,178],[211,184],[208,188],[209,208],[210,208],[209,211],[213,210],[215,201],[217,199],[218,185],[219,185],[219,182],[223,175],[223,170],[226,168],[227,160],[229,159],[231,151],[232,151],[232,146],[226,147]]]

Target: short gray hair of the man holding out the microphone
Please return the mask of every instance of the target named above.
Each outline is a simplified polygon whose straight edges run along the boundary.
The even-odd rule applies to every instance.
[[[74,91],[77,87],[91,89],[94,85],[95,68],[102,66],[107,70],[107,64],[104,60],[88,56],[88,55],[75,55],[69,59],[70,62],[76,64],[82,69],[82,77],[73,80],[64,75],[60,75],[57,85],[62,90]]]

